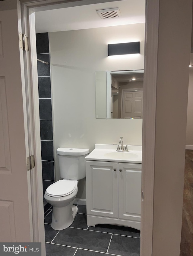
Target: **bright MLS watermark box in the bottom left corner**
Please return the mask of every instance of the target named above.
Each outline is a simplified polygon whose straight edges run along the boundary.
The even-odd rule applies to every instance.
[[[41,243],[0,243],[0,255],[41,256]]]

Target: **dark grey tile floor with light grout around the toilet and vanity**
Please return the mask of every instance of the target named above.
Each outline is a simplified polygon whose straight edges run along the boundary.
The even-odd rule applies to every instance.
[[[87,226],[86,206],[78,205],[74,222],[64,230],[51,228],[52,210],[45,217],[46,256],[139,256],[140,232],[133,228]]]

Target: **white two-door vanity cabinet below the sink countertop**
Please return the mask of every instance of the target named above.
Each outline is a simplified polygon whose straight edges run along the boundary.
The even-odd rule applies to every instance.
[[[140,230],[141,164],[86,161],[87,225]]]

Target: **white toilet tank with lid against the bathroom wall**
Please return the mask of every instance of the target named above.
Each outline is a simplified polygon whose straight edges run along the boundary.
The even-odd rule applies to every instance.
[[[89,149],[58,148],[60,177],[78,180],[86,177],[86,160]]]

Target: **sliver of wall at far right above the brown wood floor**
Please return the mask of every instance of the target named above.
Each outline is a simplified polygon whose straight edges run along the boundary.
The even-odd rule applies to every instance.
[[[189,73],[186,145],[193,145],[193,71]]]

